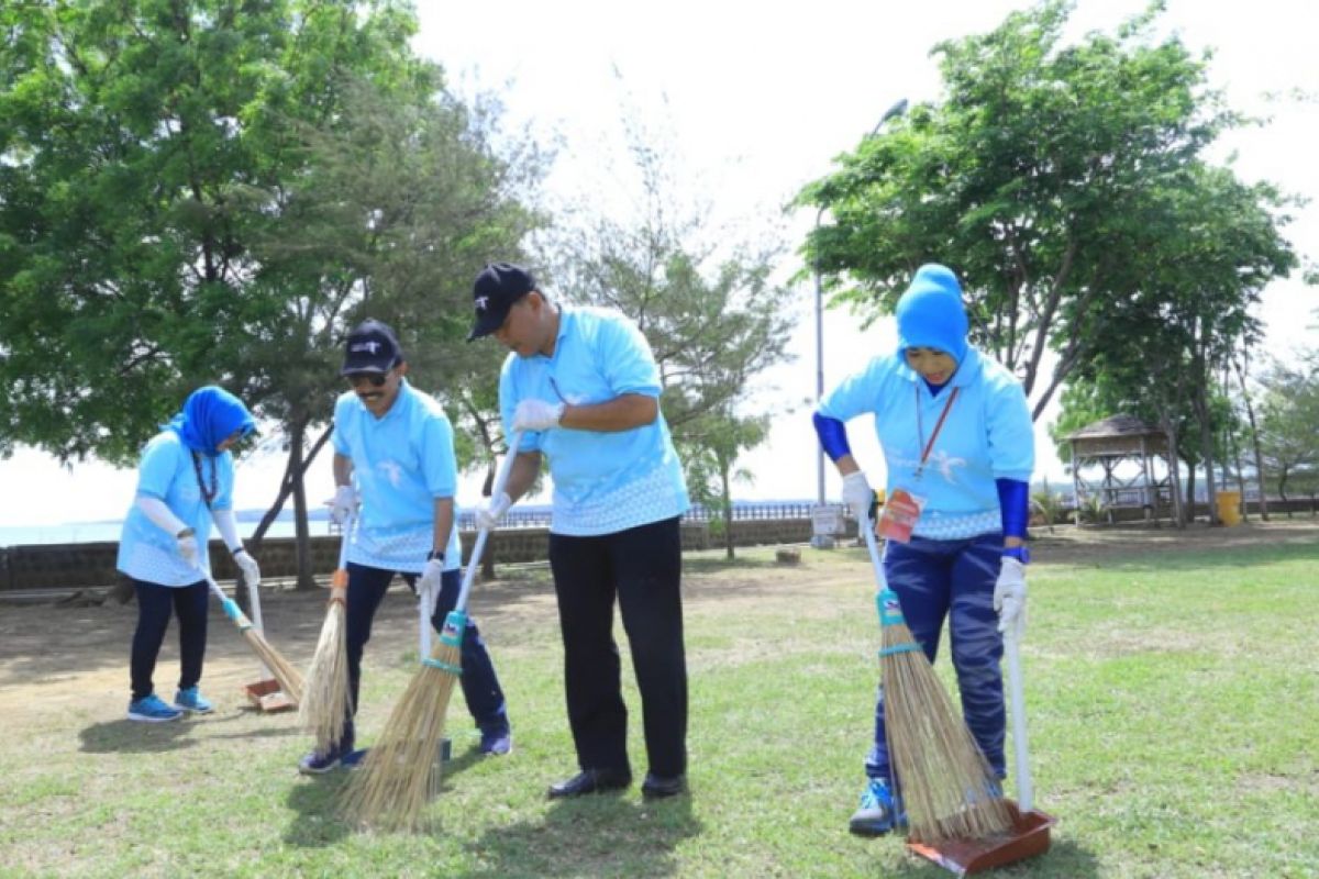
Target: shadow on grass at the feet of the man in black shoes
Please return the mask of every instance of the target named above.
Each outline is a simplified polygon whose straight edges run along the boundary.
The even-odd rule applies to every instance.
[[[468,845],[470,879],[506,876],[667,876],[674,850],[700,833],[691,795],[637,803],[624,792],[550,805],[543,820],[491,828]]]

